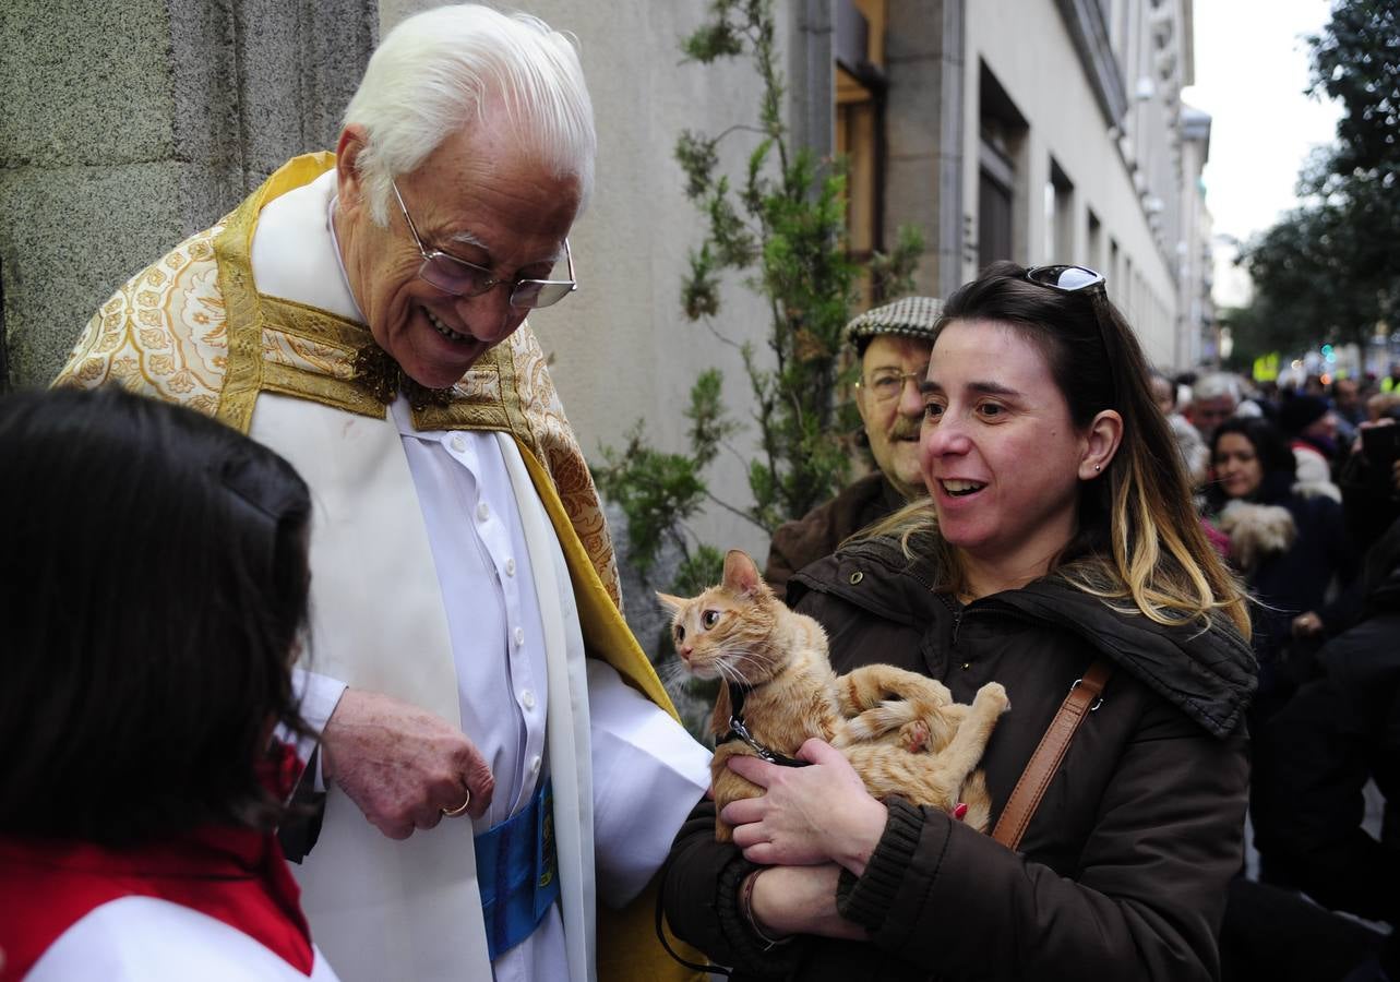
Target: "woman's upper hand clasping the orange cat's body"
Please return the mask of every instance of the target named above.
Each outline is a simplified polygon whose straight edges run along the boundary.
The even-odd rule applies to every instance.
[[[734,825],[734,843],[750,863],[840,863],[860,876],[885,832],[885,805],[865,791],[860,775],[830,744],[808,740],[797,755],[812,766],[731,756],[729,769],[767,793],[732,801],[720,817]]]

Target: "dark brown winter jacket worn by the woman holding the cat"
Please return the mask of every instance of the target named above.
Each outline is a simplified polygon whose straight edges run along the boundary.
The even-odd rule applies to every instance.
[[[934,594],[896,545],[862,542],[791,591],[848,671],[890,661],[970,702],[1011,696],[983,758],[993,821],[1070,685],[1114,663],[1012,853],[928,808],[889,803],[885,835],[841,912],[868,944],[801,937],[762,953],[735,904],[755,869],[714,842],[701,803],[672,846],[664,905],[675,932],[734,978],[1211,979],[1226,884],[1243,855],[1249,646],[1232,626],[1170,630],[1056,580],[966,608]]]

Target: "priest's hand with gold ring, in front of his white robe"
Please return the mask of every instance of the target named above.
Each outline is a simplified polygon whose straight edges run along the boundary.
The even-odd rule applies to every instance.
[[[321,734],[326,780],[354,801],[391,839],[433,828],[444,810],[480,818],[494,779],[476,745],[427,710],[379,695],[346,689]]]

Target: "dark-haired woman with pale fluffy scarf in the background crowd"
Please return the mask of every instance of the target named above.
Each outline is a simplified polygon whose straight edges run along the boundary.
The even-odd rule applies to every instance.
[[[1302,396],[1295,396],[1302,398]],[[1296,458],[1264,419],[1229,419],[1211,438],[1214,480],[1207,514],[1231,541],[1231,560],[1257,601],[1252,607],[1259,695],[1254,719],[1267,719],[1292,693],[1281,671],[1294,619],[1324,619],[1329,587],[1347,587],[1358,559],[1341,506],[1313,483],[1299,483]]]

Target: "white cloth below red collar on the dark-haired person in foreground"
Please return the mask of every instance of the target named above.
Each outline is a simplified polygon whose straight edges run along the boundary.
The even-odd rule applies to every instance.
[[[154,897],[123,897],[76,920],[25,982],[337,982],[312,947],[302,975],[223,920]]]

